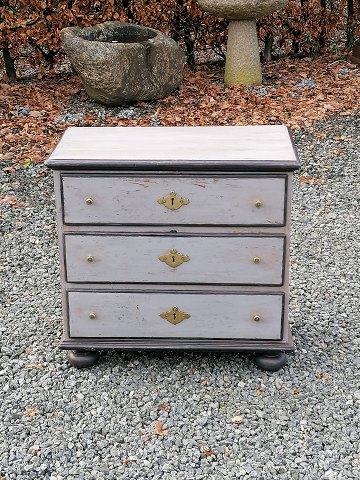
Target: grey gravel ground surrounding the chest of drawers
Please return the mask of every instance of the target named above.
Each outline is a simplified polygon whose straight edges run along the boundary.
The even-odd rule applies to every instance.
[[[2,195],[28,204],[1,207],[1,479],[360,478],[358,119],[315,133],[295,138],[296,352],[276,373],[231,353],[111,352],[70,368],[51,176],[1,172]]]

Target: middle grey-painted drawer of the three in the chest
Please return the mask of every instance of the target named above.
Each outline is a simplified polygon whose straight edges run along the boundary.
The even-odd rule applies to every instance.
[[[282,285],[284,244],[274,236],[65,235],[67,281]]]

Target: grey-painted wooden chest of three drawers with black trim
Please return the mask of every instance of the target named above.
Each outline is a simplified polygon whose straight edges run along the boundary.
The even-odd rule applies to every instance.
[[[106,349],[285,364],[299,167],[285,127],[73,127],[46,164],[72,365]]]

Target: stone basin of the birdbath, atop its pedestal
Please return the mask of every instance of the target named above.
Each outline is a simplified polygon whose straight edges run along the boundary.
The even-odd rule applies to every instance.
[[[288,0],[198,0],[205,11],[229,20],[250,20],[285,7]]]

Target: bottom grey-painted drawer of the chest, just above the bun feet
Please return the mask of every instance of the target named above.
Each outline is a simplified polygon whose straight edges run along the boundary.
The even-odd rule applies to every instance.
[[[282,293],[68,292],[70,337],[279,340]]]

